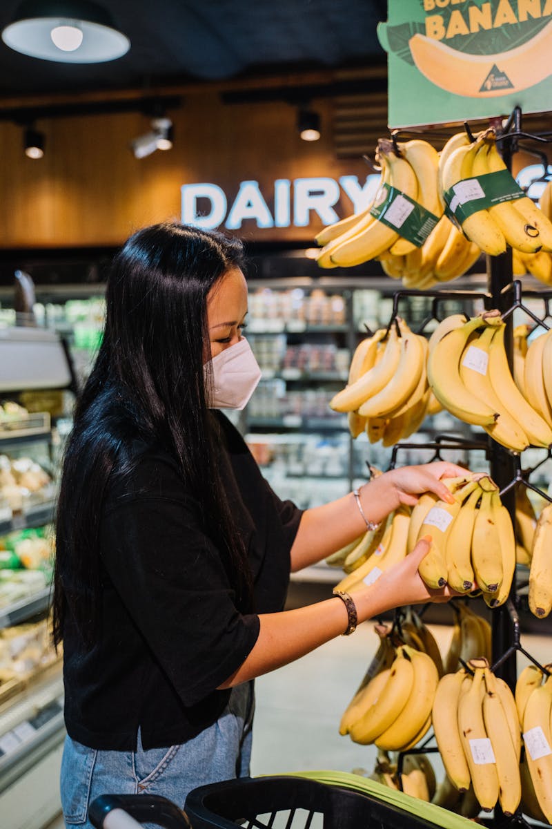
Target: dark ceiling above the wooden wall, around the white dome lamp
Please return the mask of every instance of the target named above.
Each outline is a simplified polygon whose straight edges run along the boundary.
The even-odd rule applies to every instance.
[[[18,0],[0,3],[0,28]],[[103,0],[131,41],[117,61],[78,65],[20,55],[0,41],[0,95],[147,88],[385,61],[386,0]]]

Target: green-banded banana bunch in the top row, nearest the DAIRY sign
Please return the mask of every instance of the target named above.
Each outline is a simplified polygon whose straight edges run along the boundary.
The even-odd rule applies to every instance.
[[[410,213],[411,209],[407,199],[417,202],[436,219],[442,216],[437,192],[437,151],[419,138],[398,143],[397,148],[400,154],[390,140],[382,138],[377,143],[376,159],[382,167],[382,180],[372,204],[329,225],[316,236],[317,244],[323,245],[316,260],[321,268],[348,268],[382,255],[405,256],[417,250],[399,232],[405,212]],[[387,187],[398,192],[385,211],[384,222],[373,214],[386,199]],[[386,224],[387,221],[393,223]]]

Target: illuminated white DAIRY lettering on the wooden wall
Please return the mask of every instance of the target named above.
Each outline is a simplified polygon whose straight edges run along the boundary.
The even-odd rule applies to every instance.
[[[350,213],[364,210],[372,201],[379,175],[369,175],[361,184],[357,176],[341,176],[337,181],[329,177],[278,178],[267,201],[259,182],[241,182],[238,195],[228,209],[228,198],[217,184],[184,184],[181,187],[182,221],[204,230],[223,225],[238,230],[247,219],[258,228],[307,227],[312,215],[324,225],[332,225],[342,216],[334,210],[344,193],[353,202]],[[271,207],[269,207],[269,203]]]

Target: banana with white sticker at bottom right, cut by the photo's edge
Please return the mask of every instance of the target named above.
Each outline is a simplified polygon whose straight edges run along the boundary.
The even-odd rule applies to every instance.
[[[550,679],[532,692],[523,715],[523,741],[526,746],[526,764],[535,788],[535,795],[546,820],[552,822],[552,734],[550,709],[552,683]],[[539,738],[535,750],[535,737]],[[533,739],[531,739],[533,738]],[[542,756],[539,756],[539,755]],[[535,757],[535,759],[533,759]]]

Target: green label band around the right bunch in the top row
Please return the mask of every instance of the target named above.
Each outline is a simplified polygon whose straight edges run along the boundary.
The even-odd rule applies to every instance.
[[[484,176],[463,178],[450,187],[444,193],[444,212],[449,219],[462,225],[473,213],[488,210],[503,201],[522,199],[525,195],[508,170],[487,172]]]

